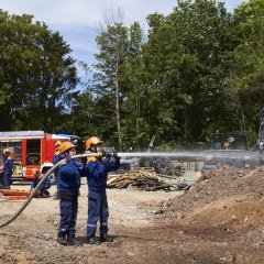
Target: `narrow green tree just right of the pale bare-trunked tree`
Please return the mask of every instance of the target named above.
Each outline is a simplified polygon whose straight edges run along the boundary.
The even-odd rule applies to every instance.
[[[148,94],[144,62],[143,31],[139,22],[129,29],[125,58],[125,90],[122,105],[124,147],[146,145],[150,138],[147,120]]]

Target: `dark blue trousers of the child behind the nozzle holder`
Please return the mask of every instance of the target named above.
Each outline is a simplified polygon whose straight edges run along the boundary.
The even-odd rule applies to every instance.
[[[78,212],[78,198],[76,199],[61,199],[61,222],[57,232],[58,238],[75,238],[76,220]]]

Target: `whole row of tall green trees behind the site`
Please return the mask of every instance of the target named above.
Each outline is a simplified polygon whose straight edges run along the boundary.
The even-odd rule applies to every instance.
[[[168,15],[108,21],[91,79],[76,90],[63,37],[30,15],[0,13],[1,130],[66,129],[118,150],[204,147],[210,134],[256,142],[264,106],[264,2],[233,13],[213,0],[178,0]]]

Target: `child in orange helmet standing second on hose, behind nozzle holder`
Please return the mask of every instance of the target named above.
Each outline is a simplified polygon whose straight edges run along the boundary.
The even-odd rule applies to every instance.
[[[76,154],[75,145],[65,141],[59,146],[59,155],[65,155],[64,162],[58,168],[58,195],[61,207],[61,222],[57,232],[57,242],[63,245],[78,245],[75,239],[76,220],[78,211],[78,191],[80,187],[79,167],[72,160]]]

